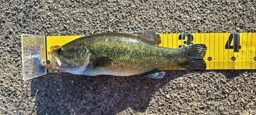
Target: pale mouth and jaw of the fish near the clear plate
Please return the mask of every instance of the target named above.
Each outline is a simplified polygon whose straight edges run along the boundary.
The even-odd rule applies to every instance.
[[[55,56],[52,52],[49,52],[50,63],[45,65],[45,68],[50,70],[62,70],[61,68],[61,59],[58,56]]]

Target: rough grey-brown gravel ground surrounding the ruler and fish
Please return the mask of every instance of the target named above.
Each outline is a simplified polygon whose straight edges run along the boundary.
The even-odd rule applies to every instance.
[[[256,114],[255,70],[22,80],[22,33],[255,32],[255,1],[0,1],[0,114]]]

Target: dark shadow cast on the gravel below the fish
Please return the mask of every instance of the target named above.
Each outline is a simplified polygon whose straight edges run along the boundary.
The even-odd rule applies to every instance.
[[[32,80],[31,95],[37,114],[115,114],[128,107],[144,112],[155,91],[186,73],[166,72],[163,79],[48,74]]]

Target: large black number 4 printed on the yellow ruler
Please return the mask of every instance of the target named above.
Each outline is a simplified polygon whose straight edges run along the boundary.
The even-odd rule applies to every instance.
[[[234,40],[233,45],[231,45],[232,40]],[[231,33],[229,35],[225,45],[225,49],[233,49],[233,52],[239,52],[239,49],[241,49],[239,33]]]

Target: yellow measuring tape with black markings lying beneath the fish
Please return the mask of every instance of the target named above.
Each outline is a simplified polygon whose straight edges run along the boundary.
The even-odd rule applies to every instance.
[[[79,37],[81,36],[47,36],[47,52]],[[206,70],[256,69],[256,33],[160,34],[160,37],[162,42],[159,46],[166,48],[179,48],[195,43],[205,44]],[[159,69],[186,70],[176,65],[163,66]],[[48,70],[48,73],[55,72],[57,71]]]

